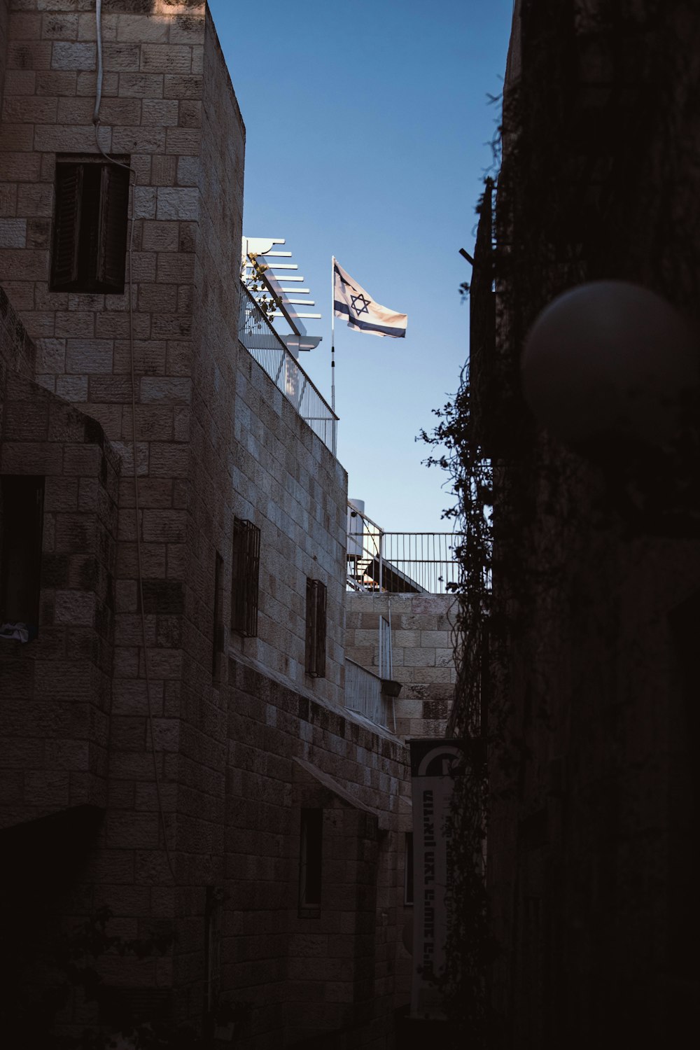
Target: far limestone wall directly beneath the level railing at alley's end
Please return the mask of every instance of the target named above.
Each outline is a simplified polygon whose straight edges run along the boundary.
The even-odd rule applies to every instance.
[[[347,592],[345,655],[379,673],[379,617],[391,614],[397,734],[442,736],[454,695],[454,598],[450,594]]]

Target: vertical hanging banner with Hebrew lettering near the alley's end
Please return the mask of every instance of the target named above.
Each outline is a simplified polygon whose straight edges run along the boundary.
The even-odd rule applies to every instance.
[[[436,979],[445,966],[449,922],[446,817],[463,760],[459,740],[409,740],[413,800],[413,970],[411,1017],[443,1017]]]

